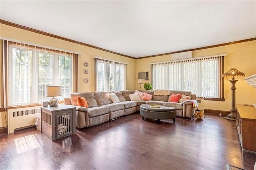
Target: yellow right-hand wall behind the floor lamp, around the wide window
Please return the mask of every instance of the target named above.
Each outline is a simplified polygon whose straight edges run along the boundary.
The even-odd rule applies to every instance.
[[[235,67],[239,71],[245,73],[245,77],[256,74],[256,41],[236,43],[232,45],[224,45],[208,49],[192,51],[194,57],[204,57],[209,55],[228,54],[224,59],[224,72]],[[170,61],[172,55],[162,55],[158,57],[150,57],[136,60],[136,80],[138,80],[138,72],[149,71],[149,80],[143,82],[151,82],[150,63]],[[256,103],[256,89],[248,85],[244,81],[245,77],[237,77],[236,83],[236,103],[253,104]],[[230,77],[224,77],[224,97],[225,101],[204,101],[206,109],[230,111],[231,108],[231,83],[228,81]],[[141,86],[144,89],[143,85]],[[139,89],[139,85],[136,89]]]

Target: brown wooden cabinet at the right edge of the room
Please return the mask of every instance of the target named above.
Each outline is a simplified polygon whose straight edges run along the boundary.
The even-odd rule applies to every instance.
[[[245,152],[256,154],[256,108],[252,106],[236,105],[236,127],[242,147]]]

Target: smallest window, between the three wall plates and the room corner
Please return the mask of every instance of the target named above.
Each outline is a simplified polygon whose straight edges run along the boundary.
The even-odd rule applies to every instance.
[[[126,63],[95,58],[96,91],[121,91],[126,89]]]

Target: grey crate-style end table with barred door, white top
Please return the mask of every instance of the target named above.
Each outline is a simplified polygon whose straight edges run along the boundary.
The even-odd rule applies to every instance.
[[[58,105],[41,107],[41,132],[52,141],[76,134],[76,107]]]

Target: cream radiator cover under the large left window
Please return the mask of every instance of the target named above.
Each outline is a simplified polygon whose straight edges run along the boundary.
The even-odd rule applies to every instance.
[[[41,114],[40,106],[8,109],[8,134],[15,129],[35,125],[36,115]]]

